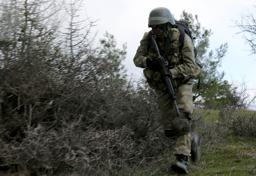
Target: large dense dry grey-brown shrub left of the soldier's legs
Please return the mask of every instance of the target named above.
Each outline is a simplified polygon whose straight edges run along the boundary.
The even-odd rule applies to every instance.
[[[1,168],[36,175],[118,175],[172,151],[153,91],[110,78],[70,79],[55,91],[57,98],[42,96],[47,103],[36,103],[35,111],[10,108],[12,116],[3,114]]]

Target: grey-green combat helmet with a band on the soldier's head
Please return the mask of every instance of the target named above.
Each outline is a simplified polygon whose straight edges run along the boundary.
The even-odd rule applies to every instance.
[[[158,25],[164,23],[171,23],[172,25],[175,24],[173,15],[168,8],[157,7],[149,13],[149,28],[151,27],[151,25]]]

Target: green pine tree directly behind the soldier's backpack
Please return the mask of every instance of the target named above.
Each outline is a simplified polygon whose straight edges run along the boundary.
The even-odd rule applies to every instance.
[[[204,107],[216,109],[222,105],[233,105],[237,103],[232,92],[232,86],[227,80],[224,80],[224,72],[219,72],[221,61],[225,57],[228,44],[224,43],[219,48],[209,51],[212,31],[201,27],[198,16],[183,11],[180,20],[186,20],[194,35],[194,44],[197,49],[196,61],[203,66],[200,72],[200,89],[197,89],[197,83],[194,84],[193,92],[197,98],[196,104]]]

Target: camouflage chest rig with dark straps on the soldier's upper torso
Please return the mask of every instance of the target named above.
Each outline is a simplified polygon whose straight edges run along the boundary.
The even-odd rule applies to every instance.
[[[148,46],[147,51],[149,57],[157,57],[157,54],[155,53],[155,49],[153,45],[150,43],[150,36],[154,35],[153,31],[149,32],[148,37]],[[171,28],[170,32],[167,34],[166,39],[164,42],[157,42],[159,51],[161,56],[165,58],[165,60],[168,60],[169,62],[169,68],[175,67],[176,65],[181,64],[182,57],[180,53],[180,31],[177,28]]]

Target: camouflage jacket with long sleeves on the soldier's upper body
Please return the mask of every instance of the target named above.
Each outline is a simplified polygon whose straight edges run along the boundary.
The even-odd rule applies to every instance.
[[[134,61],[134,64],[136,67],[146,68],[147,57],[155,57],[156,56],[156,53],[152,49],[149,49],[149,51],[148,51],[148,48],[147,48],[148,35],[149,35],[149,32],[145,32],[142,40],[140,41],[140,46],[138,47],[137,52],[133,58],[133,61]],[[178,29],[172,28],[171,35],[172,35],[172,38],[174,40],[176,40],[176,43],[174,41],[174,43],[173,44],[171,43],[170,45],[175,45],[175,44],[178,45],[177,42],[178,42],[178,38],[180,36],[180,32],[178,31]],[[164,51],[165,40],[166,40],[166,37],[163,41],[158,41],[160,51],[161,50]],[[170,48],[171,47],[172,46],[170,46]],[[152,53],[152,51],[154,53]],[[169,49],[169,52],[171,52],[170,49]],[[178,50],[176,52],[179,53]],[[195,61],[194,45],[192,43],[192,40],[190,39],[190,37],[187,34],[185,34],[184,45],[183,45],[183,48],[181,49],[179,57],[177,57],[177,55],[176,55],[176,57],[174,57],[174,55],[177,53],[174,53],[174,54],[169,53],[169,54],[171,54],[171,55],[168,55],[168,60],[169,60],[169,63],[172,63],[169,67],[169,71],[172,73],[173,79],[180,79],[180,80],[182,80],[181,82],[183,82],[190,78],[195,78],[199,74],[200,68],[197,66],[196,61]],[[154,75],[154,72],[152,72],[152,74]],[[145,75],[145,73],[144,73],[144,75]],[[153,77],[153,75],[151,77]],[[146,77],[147,77],[147,79],[149,79],[150,76],[146,76]],[[150,79],[153,79],[151,77],[150,77]]]

